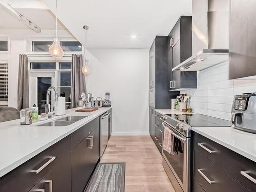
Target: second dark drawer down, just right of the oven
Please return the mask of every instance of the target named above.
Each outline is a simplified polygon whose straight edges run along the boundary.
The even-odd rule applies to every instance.
[[[194,179],[207,192],[247,192],[248,190],[222,169],[195,151]]]

